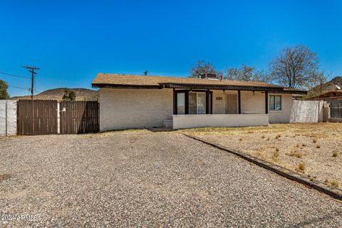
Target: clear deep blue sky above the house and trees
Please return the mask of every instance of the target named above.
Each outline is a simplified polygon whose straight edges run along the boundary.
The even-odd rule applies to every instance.
[[[342,75],[340,1],[0,1],[0,72],[36,91],[90,88],[96,73],[188,76],[199,60],[267,70],[285,46]],[[28,78],[0,74],[10,86]],[[28,90],[10,88],[11,95]]]

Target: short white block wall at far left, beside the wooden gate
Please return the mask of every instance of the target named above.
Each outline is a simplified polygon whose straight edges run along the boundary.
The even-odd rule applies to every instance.
[[[16,135],[16,100],[0,100],[0,135]]]

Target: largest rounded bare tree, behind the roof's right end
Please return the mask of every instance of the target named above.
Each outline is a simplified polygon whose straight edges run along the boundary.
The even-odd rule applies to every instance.
[[[271,76],[288,88],[312,88],[322,81],[317,54],[306,46],[284,48],[271,63]]]

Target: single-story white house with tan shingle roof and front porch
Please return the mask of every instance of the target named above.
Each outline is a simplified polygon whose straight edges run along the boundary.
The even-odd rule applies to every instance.
[[[98,73],[100,131],[289,123],[294,95],[282,86],[217,78]]]

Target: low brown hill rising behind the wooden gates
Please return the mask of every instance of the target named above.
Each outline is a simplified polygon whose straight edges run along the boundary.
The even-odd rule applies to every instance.
[[[98,100],[98,90],[89,90],[87,88],[53,88],[34,95],[36,100],[62,100],[64,91],[72,90],[76,93],[76,100]],[[28,100],[31,95],[12,97],[14,100]]]

